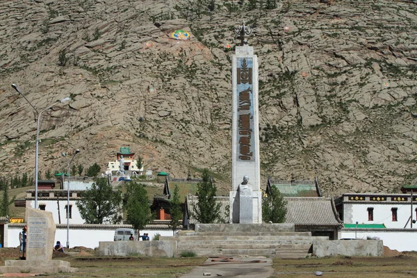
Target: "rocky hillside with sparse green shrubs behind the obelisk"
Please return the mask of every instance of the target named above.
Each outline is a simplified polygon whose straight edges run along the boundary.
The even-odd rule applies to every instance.
[[[1,175],[115,159],[231,180],[234,27],[254,29],[261,171],[325,195],[397,192],[416,174],[417,6],[400,0],[0,0]],[[172,31],[190,32],[173,40]]]

